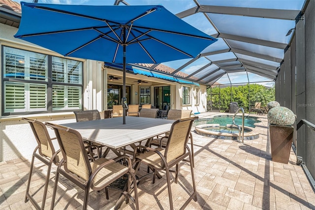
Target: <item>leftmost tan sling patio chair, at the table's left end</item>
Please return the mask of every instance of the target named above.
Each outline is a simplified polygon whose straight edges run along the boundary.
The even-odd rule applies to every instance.
[[[53,138],[53,139],[50,138],[49,133],[44,123],[35,119],[26,118],[26,117],[23,117],[22,120],[25,120],[30,123],[32,132],[37,142],[37,146],[34,149],[33,154],[32,154],[31,170],[30,170],[27,187],[26,187],[26,194],[25,194],[24,202],[26,203],[28,202],[28,200],[30,200],[36,209],[44,209],[51,167],[53,164],[58,165],[63,157],[60,150],[58,151],[55,150],[52,140],[56,138]],[[39,207],[35,199],[29,193],[35,157],[48,166],[41,207]]]

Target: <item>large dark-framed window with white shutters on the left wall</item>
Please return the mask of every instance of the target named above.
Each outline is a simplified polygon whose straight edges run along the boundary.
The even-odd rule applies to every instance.
[[[82,109],[79,61],[2,47],[2,113]]]

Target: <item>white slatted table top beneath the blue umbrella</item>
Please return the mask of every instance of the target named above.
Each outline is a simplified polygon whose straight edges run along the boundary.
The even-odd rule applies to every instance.
[[[84,140],[118,149],[170,131],[175,120],[126,116],[62,124],[77,130]]]

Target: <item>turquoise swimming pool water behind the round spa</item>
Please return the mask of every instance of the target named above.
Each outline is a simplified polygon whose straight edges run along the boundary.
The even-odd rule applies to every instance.
[[[213,118],[205,118],[205,119],[196,119],[193,123],[194,126],[201,124],[220,124],[220,126],[226,126],[226,124],[233,124],[232,115],[222,115],[215,116]],[[254,128],[254,123],[261,122],[258,120],[258,117],[245,117],[244,124],[245,126]],[[237,125],[242,125],[242,116],[235,116],[235,123]]]

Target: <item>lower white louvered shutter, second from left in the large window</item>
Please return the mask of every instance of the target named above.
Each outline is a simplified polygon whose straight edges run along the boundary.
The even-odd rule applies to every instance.
[[[30,84],[30,108],[46,110],[46,85]]]

